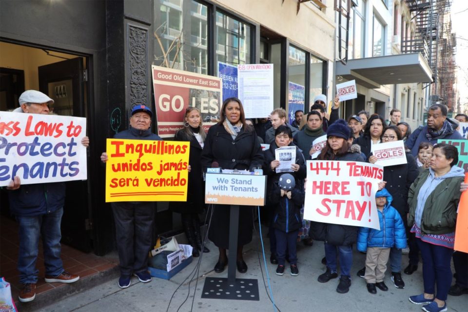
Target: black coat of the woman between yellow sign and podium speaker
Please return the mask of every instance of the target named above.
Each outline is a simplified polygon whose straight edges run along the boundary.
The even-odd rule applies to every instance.
[[[171,202],[170,208],[173,212],[181,214],[199,214],[205,208],[205,182],[203,181],[203,171],[201,169],[202,148],[195,136],[188,137],[185,131],[176,132],[175,141],[190,141],[189,181],[187,184],[187,201]]]

